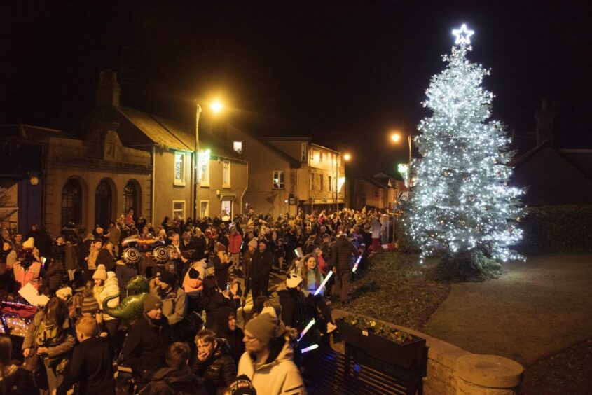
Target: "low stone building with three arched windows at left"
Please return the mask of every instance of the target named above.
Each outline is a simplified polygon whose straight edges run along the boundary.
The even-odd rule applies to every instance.
[[[116,123],[95,123],[88,139],[71,137],[60,130],[29,125],[4,125],[3,141],[41,148],[39,173],[21,174],[27,193],[19,193],[17,228],[26,233],[33,223],[43,223],[51,235],[59,235],[68,223],[80,232],[95,225],[108,226],[128,209],[146,211],[150,200],[150,155],[121,144]],[[33,158],[30,158],[33,160]],[[30,194],[30,195],[29,195]],[[32,199],[33,197],[33,199]],[[26,214],[25,214],[26,213]]]

